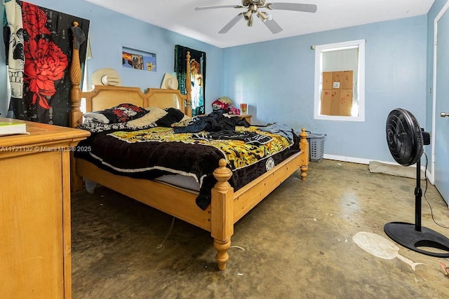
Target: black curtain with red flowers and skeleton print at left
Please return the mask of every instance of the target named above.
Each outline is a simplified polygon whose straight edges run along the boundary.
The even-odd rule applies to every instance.
[[[22,120],[69,125],[73,22],[79,23],[84,34],[77,41],[85,41],[89,20],[24,1],[5,3],[4,42],[11,83],[8,115],[12,112]],[[86,45],[79,47],[82,67]]]

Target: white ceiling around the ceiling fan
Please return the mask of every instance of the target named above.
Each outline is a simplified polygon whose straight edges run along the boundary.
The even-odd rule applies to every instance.
[[[244,8],[203,11],[195,11],[194,8],[241,5],[241,0],[86,1],[219,48],[425,15],[434,3],[434,0],[267,0],[267,3],[316,4],[318,9],[316,13],[264,10],[283,28],[278,34],[272,34],[259,18],[254,18],[253,27],[240,20],[226,34],[218,34],[227,22],[244,12]]]

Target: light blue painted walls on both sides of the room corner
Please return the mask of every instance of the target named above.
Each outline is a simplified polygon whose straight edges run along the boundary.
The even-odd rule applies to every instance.
[[[437,0],[434,6],[443,2]],[[163,74],[173,71],[173,48],[180,44],[207,53],[206,111],[213,100],[227,95],[237,104],[249,104],[255,124],[280,122],[296,130],[306,127],[326,133],[326,155],[393,162],[384,127],[389,111],[396,107],[412,111],[420,123],[429,126],[431,36],[426,15],[220,49],[86,1],[32,3],[91,20],[93,59],[87,62],[88,83],[96,69],[113,67],[122,85],[158,88]],[[311,46],[356,39],[366,39],[366,121],[314,120]],[[156,53],[157,72],[121,67],[122,46]],[[4,53],[3,43],[0,53]],[[7,108],[4,64],[4,55],[0,55],[2,116]]]

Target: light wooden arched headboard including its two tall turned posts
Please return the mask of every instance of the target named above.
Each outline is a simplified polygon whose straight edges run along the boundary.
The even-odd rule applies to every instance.
[[[74,22],[74,26],[78,23]],[[82,92],[79,87],[81,83],[81,64],[79,61],[79,50],[73,46],[72,65],[70,67],[70,80],[72,81],[72,111],[69,112],[70,127],[78,127],[83,121],[81,112],[81,99],[86,99],[86,112],[108,109],[113,106],[130,103],[140,107],[156,106],[159,108],[177,108],[187,116],[192,116],[192,83],[190,81],[190,53],[186,55],[187,76],[185,81],[186,95],[180,90],[169,90],[159,88],[147,88],[142,92],[140,88],[95,85],[90,92]]]

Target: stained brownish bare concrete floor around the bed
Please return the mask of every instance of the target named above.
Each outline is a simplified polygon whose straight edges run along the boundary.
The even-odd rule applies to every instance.
[[[236,223],[223,272],[205,230],[175,219],[168,235],[173,217],[140,202],[102,187],[72,193],[73,298],[449,297],[439,263],[448,258],[398,246],[399,255],[424,263],[413,271],[352,239],[373,232],[391,241],[385,223],[415,223],[415,179],[333,160],[309,166],[307,181],[293,174]],[[434,186],[426,196],[435,220],[449,227]],[[422,226],[449,236],[424,197]]]

